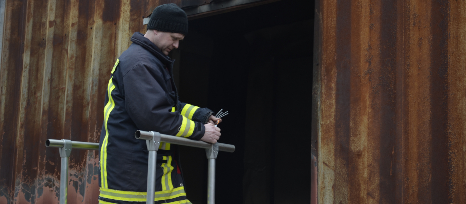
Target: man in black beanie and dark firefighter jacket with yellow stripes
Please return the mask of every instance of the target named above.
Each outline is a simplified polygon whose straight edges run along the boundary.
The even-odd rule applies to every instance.
[[[99,204],[146,202],[148,151],[136,130],[216,143],[220,129],[207,108],[179,102],[174,60],[167,55],[188,32],[185,12],[176,4],[154,9],[146,34],[134,33],[130,47],[111,70],[99,143]],[[203,79],[199,79],[203,80]],[[205,80],[205,79],[204,79]],[[190,204],[175,145],[161,143],[157,154],[155,203]]]

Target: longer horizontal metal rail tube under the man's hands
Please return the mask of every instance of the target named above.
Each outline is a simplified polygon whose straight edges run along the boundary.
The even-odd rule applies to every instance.
[[[151,132],[147,132],[143,130],[137,130],[135,133],[135,137],[138,139],[151,140],[152,136],[153,135]],[[191,140],[185,137],[165,135],[165,134],[160,134],[160,142],[178,144],[178,145],[184,145],[184,146],[190,146],[190,147],[197,147],[197,148],[204,148],[204,149],[210,149],[212,147],[211,143]],[[219,151],[234,152],[234,150],[235,150],[235,146],[233,144],[219,143]]]

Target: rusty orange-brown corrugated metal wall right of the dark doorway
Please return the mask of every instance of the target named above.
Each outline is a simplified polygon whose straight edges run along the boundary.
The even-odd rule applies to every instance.
[[[466,203],[466,2],[316,5],[319,203]]]

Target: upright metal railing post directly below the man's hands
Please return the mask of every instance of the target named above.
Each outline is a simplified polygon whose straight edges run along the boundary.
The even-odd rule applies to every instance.
[[[207,204],[215,204],[215,159],[219,153],[219,144],[212,144],[212,147],[206,150],[208,159],[207,168]]]

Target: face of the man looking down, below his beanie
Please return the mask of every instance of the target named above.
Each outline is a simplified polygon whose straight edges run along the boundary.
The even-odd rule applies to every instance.
[[[179,41],[185,38],[184,34],[179,33],[167,33],[162,31],[154,30],[154,44],[165,54],[172,49],[178,48]]]

